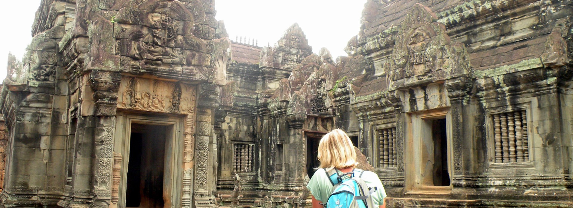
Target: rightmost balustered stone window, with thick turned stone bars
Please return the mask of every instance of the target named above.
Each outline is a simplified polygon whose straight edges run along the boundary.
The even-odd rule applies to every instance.
[[[492,115],[495,162],[529,162],[527,111]]]

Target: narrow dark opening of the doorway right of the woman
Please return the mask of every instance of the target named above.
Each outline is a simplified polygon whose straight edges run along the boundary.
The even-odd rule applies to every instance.
[[[434,143],[434,186],[450,186],[446,119],[432,121],[432,140]]]

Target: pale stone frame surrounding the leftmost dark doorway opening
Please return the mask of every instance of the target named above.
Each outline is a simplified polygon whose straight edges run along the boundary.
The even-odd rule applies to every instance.
[[[142,112],[118,112],[117,128],[115,134],[114,152],[120,154],[123,160],[120,162],[119,175],[114,171],[113,177],[120,177],[117,189],[117,207],[125,207],[125,190],[127,189],[127,167],[129,162],[129,138],[131,137],[131,124],[146,124],[166,126],[166,152],[165,167],[163,174],[163,189],[169,190],[165,207],[181,207],[183,188],[183,129],[184,117],[167,113],[142,113]],[[164,197],[164,199],[166,199]],[[112,204],[113,205],[113,204]]]

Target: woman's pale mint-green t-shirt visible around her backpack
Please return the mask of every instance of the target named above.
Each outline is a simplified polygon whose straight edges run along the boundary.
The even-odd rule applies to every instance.
[[[336,170],[339,174],[342,174],[339,170]],[[350,175],[344,176],[350,178]],[[380,178],[374,172],[364,172],[362,174],[362,180],[366,182],[368,187],[378,187],[374,193],[372,193],[372,199],[377,205],[384,205],[384,198],[386,198],[386,191],[384,190],[384,186],[382,182],[380,182]],[[345,178],[346,179],[346,178]],[[328,201],[328,197],[332,193],[332,183],[330,178],[328,178],[327,174],[325,173],[324,169],[316,170],[315,174],[312,176],[311,181],[308,182],[307,189],[311,191],[313,197],[316,200],[326,203]]]

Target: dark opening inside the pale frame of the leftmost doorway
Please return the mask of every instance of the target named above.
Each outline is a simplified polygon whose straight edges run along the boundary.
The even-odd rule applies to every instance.
[[[166,127],[132,124],[125,207],[164,206]]]

